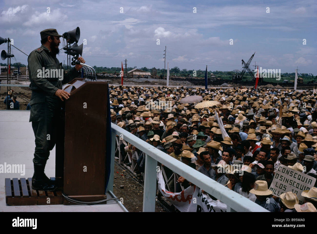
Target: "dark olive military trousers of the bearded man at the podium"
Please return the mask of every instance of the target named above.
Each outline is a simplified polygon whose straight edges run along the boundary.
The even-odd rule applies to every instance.
[[[34,165],[44,166],[57,140],[57,126],[60,124],[61,107],[55,97],[46,97],[44,103],[31,106],[30,121],[35,136]]]

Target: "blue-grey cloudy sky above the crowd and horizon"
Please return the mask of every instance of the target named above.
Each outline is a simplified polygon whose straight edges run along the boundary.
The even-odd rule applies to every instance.
[[[298,66],[300,73],[317,75],[314,0],[2,0],[0,9],[0,37],[13,38],[26,54],[40,47],[41,30],[56,28],[62,34],[79,26],[78,44],[87,39],[82,56],[92,66],[119,67],[127,59],[128,67],[164,68],[166,46],[170,68],[241,70],[241,59],[247,62],[256,52],[251,65],[282,73]],[[17,62],[27,63],[26,55],[12,51]],[[58,55],[60,62],[65,58]]]

